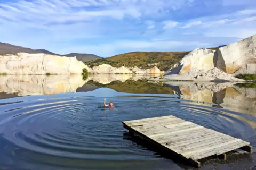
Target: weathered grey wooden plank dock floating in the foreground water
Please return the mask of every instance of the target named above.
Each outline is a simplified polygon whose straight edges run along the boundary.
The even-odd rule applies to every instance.
[[[174,154],[196,167],[199,159],[218,156],[226,159],[226,152],[242,149],[252,152],[250,143],[229,135],[204,128],[175,116],[125,121],[130,133],[154,144],[167,154]]]

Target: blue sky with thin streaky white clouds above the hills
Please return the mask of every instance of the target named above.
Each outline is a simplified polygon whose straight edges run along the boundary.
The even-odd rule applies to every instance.
[[[186,51],[255,34],[255,0],[0,0],[0,42],[58,54]]]

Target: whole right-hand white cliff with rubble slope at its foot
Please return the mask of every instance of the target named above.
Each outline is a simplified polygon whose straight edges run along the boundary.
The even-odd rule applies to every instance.
[[[256,73],[256,35],[217,50],[195,49],[175,64],[164,78],[240,81],[233,77],[239,73]]]

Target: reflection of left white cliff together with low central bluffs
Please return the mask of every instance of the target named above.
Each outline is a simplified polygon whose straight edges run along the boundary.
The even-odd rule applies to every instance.
[[[31,96],[76,92],[78,88],[90,91],[96,89],[97,87],[91,87],[90,84],[85,84],[88,81],[94,81],[101,84],[109,84],[113,81],[136,81],[139,79],[152,78],[157,76],[157,74],[105,74],[89,75],[87,80],[83,80],[83,77],[81,75],[6,75],[0,76],[0,93],[14,94],[14,96]],[[6,94],[0,94],[0,98],[8,97]]]

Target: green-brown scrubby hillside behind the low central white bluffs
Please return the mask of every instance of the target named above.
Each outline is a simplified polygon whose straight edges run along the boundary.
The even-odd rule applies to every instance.
[[[153,67],[150,64],[156,64],[161,70],[170,69],[172,65],[179,62],[183,56],[189,52],[132,52],[115,55],[113,57],[101,58],[87,62],[90,67],[98,66],[100,64],[109,64],[113,67],[143,67],[148,69]]]

